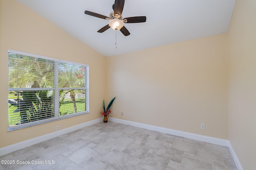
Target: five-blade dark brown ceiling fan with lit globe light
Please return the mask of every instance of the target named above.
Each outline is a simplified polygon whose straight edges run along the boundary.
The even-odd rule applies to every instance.
[[[112,6],[113,10],[110,12],[109,17],[97,14],[95,12],[85,11],[84,14],[102,18],[104,20],[109,20],[108,25],[102,27],[97,32],[103,33],[110,27],[116,31],[120,30],[125,36],[130,35],[130,32],[124,27],[124,23],[139,23],[146,22],[146,16],[136,16],[136,17],[122,17],[122,11],[124,8],[124,0],[115,0],[115,3]]]

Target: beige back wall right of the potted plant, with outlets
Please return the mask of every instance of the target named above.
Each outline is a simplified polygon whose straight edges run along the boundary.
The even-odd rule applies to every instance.
[[[228,139],[226,42],[224,33],[107,57],[111,117]]]

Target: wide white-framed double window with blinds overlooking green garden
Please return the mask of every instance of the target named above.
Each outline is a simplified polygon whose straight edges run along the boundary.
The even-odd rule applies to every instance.
[[[8,130],[89,113],[89,66],[9,50]]]

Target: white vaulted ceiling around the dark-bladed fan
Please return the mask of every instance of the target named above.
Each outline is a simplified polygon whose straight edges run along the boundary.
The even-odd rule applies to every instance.
[[[170,43],[226,33],[235,0],[126,0],[123,18],[146,16],[145,23],[124,23],[124,36],[108,29],[108,20],[84,14],[85,10],[109,16],[114,0],[15,0],[104,56],[118,55]]]

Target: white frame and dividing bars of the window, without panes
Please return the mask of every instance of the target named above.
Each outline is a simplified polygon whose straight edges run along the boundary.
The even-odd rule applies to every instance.
[[[76,62],[72,62],[72,61],[65,61],[65,60],[61,60],[61,59],[54,59],[54,58],[51,58],[51,57],[45,57],[45,56],[41,56],[41,55],[35,55],[35,54],[25,53],[25,52],[20,52],[20,51],[15,51],[15,50],[8,50],[8,84],[9,84],[9,53],[13,53],[13,54],[17,54],[17,55],[25,55],[25,56],[28,56],[28,57],[36,57],[36,58],[39,58],[39,59],[51,60],[51,61],[54,61],[55,64],[54,64],[54,88],[33,88],[33,89],[31,89],[31,88],[9,88],[8,87],[8,94],[9,94],[9,91],[54,90],[54,113],[53,113],[54,117],[10,126],[9,125],[9,112],[8,112],[8,131],[13,131],[13,130],[16,130],[16,129],[22,129],[22,128],[25,128],[25,127],[30,127],[30,126],[34,126],[34,125],[48,123],[48,122],[51,122],[51,121],[66,119],[66,118],[69,118],[69,117],[74,117],[74,116],[90,113],[89,112],[89,65],[88,64],[76,63]],[[58,74],[59,66],[58,66],[58,64],[59,63],[67,63],[67,64],[74,64],[74,65],[84,66],[85,67],[84,87],[83,88],[60,88],[58,86],[58,78],[59,78],[59,74]],[[86,106],[85,111],[78,112],[78,113],[71,113],[71,114],[68,114],[68,115],[61,115],[61,116],[59,115],[60,90],[65,90],[65,89],[74,89],[74,90],[83,89],[83,90],[85,90],[85,103],[84,103],[85,106]],[[9,96],[8,96],[8,100],[9,100]]]

